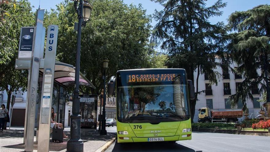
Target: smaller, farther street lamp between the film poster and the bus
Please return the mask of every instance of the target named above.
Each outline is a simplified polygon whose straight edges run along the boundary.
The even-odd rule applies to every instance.
[[[103,88],[103,111],[102,111],[102,121],[101,121],[101,131],[99,134],[101,135],[106,135],[106,120],[105,120],[105,104],[106,104],[106,71],[108,68],[109,60],[103,60],[103,69],[104,69],[104,75],[103,75],[103,80],[104,80],[104,88]]]

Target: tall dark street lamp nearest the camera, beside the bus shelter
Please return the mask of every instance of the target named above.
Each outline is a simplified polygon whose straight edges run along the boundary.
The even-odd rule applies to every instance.
[[[76,69],[75,69],[75,89],[73,91],[70,139],[67,141],[67,151],[69,152],[83,152],[83,140],[81,139],[81,118],[80,112],[80,99],[79,99],[79,73],[80,73],[80,50],[81,50],[81,32],[82,26],[90,19],[92,6],[83,0],[73,0],[74,8],[77,12],[78,22],[78,37],[76,48]],[[77,7],[79,2],[79,7]]]

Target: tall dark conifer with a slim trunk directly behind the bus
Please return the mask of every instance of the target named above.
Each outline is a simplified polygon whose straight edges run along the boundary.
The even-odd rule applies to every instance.
[[[215,61],[223,58],[223,35],[226,34],[223,23],[213,25],[208,19],[222,15],[219,9],[226,6],[218,0],[213,6],[206,7],[206,0],[151,0],[164,6],[155,11],[154,19],[158,21],[154,27],[152,40],[161,45],[168,53],[169,68],[185,68],[187,78],[194,82],[197,71],[197,88],[195,99],[191,100],[191,121],[195,114],[199,74],[206,73],[211,84],[217,84],[218,72],[213,71],[222,66]]]

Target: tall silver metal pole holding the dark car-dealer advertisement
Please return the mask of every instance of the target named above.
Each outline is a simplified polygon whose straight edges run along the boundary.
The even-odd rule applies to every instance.
[[[30,152],[34,149],[34,131],[36,117],[36,102],[40,59],[43,59],[45,28],[43,27],[44,9],[36,12],[36,26],[33,36],[33,49],[31,59],[30,77],[27,86],[27,125],[25,131],[25,151]]]

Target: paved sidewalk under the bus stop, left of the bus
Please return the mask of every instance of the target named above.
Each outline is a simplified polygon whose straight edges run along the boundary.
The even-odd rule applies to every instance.
[[[24,151],[23,134],[24,130],[4,130],[0,132],[0,151],[1,152],[21,152]],[[69,128],[68,128],[69,129]],[[68,130],[67,129],[67,130]],[[70,137],[70,131],[66,131],[68,137]],[[86,135],[83,135],[86,134]],[[107,135],[99,135],[97,130],[91,130],[86,133],[81,133],[81,139],[83,140],[83,151],[84,152],[102,152],[105,151],[108,146],[115,140],[116,134],[107,133]],[[36,141],[36,131],[34,136]],[[67,141],[64,139],[63,143],[52,142],[52,134],[50,138],[49,151],[52,152],[66,152]],[[37,142],[34,142],[34,151],[37,151]]]

